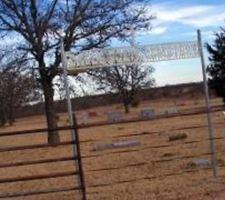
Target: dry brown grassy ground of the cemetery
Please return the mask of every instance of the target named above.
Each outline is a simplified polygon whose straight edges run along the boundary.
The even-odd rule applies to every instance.
[[[177,100],[178,110],[202,106],[201,100]],[[221,104],[215,99],[213,105]],[[133,108],[126,118],[138,116],[144,108],[154,108],[157,113],[173,107],[172,100],[143,102]],[[77,112],[82,123],[82,113],[96,113],[88,122],[106,120],[106,113],[122,110],[121,105],[99,107]],[[59,114],[59,125],[67,125],[65,113]],[[88,200],[167,200],[167,199],[225,199],[225,116],[222,112],[213,113],[215,140],[218,158],[219,178],[213,179],[210,167],[193,165],[197,159],[210,159],[207,117],[205,114],[158,119],[130,124],[101,126],[79,130],[82,161],[87,187]],[[223,123],[224,122],[224,123]],[[205,127],[196,127],[205,125]],[[44,116],[18,119],[12,127],[0,129],[6,131],[29,130],[46,127]],[[177,130],[179,129],[179,130]],[[187,138],[169,141],[170,136],[186,134]],[[70,141],[70,131],[60,132],[62,141]],[[140,145],[129,148],[117,148],[94,151],[96,145],[112,142],[135,140]],[[2,137],[0,149],[12,146],[45,144],[47,134],[32,134]],[[0,163],[29,161],[72,156],[72,146],[18,150],[0,153]],[[75,171],[74,161],[0,168],[0,180],[13,177],[50,174],[52,172]],[[0,196],[18,192],[32,192],[45,189],[62,189],[78,186],[77,176],[33,180],[16,183],[0,183]],[[79,191],[53,193],[51,195],[33,195],[23,200],[72,200],[80,199]]]

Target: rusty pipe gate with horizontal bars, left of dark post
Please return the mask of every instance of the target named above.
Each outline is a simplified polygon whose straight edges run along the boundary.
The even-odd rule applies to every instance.
[[[42,195],[51,199],[51,195],[56,194],[59,199],[63,199],[66,192],[74,193],[74,199],[86,200],[76,127],[57,129],[62,137],[57,147],[46,143],[48,131],[36,129],[0,133],[0,199],[24,199],[31,196],[36,199]],[[71,131],[75,137],[70,136]],[[24,145],[25,141],[29,141],[29,144]],[[18,145],[20,143],[23,145]],[[60,194],[63,194],[63,198],[60,198]]]

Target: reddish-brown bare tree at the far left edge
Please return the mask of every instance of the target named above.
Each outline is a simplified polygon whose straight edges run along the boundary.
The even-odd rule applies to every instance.
[[[36,81],[27,69],[25,56],[4,52],[0,59],[0,126],[13,124],[16,111],[38,98]]]

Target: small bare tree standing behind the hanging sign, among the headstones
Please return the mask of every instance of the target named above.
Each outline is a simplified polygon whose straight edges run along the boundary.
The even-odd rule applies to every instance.
[[[126,65],[89,71],[99,90],[117,93],[124,105],[125,113],[137,98],[138,92],[155,85],[151,66]]]

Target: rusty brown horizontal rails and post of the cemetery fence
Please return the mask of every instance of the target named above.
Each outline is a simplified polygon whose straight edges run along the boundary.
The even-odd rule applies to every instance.
[[[223,110],[223,106],[216,106],[212,108],[212,112],[218,112]],[[174,117],[188,117],[188,116],[194,116],[194,115],[202,115],[206,114],[206,110],[202,108],[198,108],[197,110],[186,110],[183,112],[180,112],[178,114],[172,114],[172,115],[166,115],[166,116],[158,116],[153,120],[160,120],[164,118],[174,118]],[[101,184],[92,184],[92,185],[87,185],[86,184],[86,177],[85,173],[95,173],[95,172],[111,172],[115,170],[122,170],[122,169],[127,169],[127,168],[137,168],[137,167],[142,167],[148,165],[147,162],[137,162],[137,163],[132,163],[132,164],[126,164],[126,165],[120,165],[120,166],[112,166],[112,167],[101,167],[101,168],[95,168],[95,169],[90,169],[84,171],[84,166],[82,164],[82,161],[85,159],[90,159],[90,158],[98,158],[98,157],[103,157],[103,156],[117,156],[117,155],[122,155],[122,154],[131,154],[134,152],[142,152],[142,151],[148,151],[151,149],[164,149],[164,148],[171,148],[171,147],[176,147],[176,146],[182,146],[184,147],[185,145],[191,145],[191,144],[199,144],[203,142],[207,142],[210,140],[214,141],[221,141],[225,140],[225,137],[214,137],[214,138],[205,138],[205,139],[199,139],[199,140],[191,140],[191,141],[182,141],[180,143],[173,143],[173,144],[159,144],[159,145],[143,145],[141,147],[134,147],[131,149],[116,149],[113,151],[107,151],[107,152],[101,152],[98,154],[93,154],[93,155],[82,155],[81,152],[81,147],[80,145],[86,145],[89,144],[90,142],[96,142],[98,140],[80,140],[78,130],[79,129],[88,129],[88,128],[93,128],[93,127],[99,127],[99,126],[110,126],[110,125],[118,125],[118,124],[129,124],[129,123],[137,123],[137,122],[144,122],[144,121],[150,121],[150,120],[141,120],[141,119],[127,119],[123,120],[121,122],[115,122],[115,123],[108,123],[108,122],[97,122],[97,123],[91,123],[87,125],[79,125],[77,124],[75,117],[74,117],[74,126],[64,126],[64,127],[59,127],[58,131],[70,131],[74,130],[75,132],[75,140],[73,141],[64,141],[60,142],[58,146],[60,147],[69,147],[71,145],[75,145],[75,148],[77,150],[77,155],[71,155],[71,156],[60,156],[57,158],[41,158],[41,159],[30,159],[27,161],[13,161],[13,162],[5,162],[5,163],[0,163],[0,169],[6,169],[6,168],[13,168],[13,167],[21,167],[21,166],[35,166],[39,164],[57,164],[60,162],[67,162],[67,161],[78,161],[79,167],[78,169],[74,170],[68,170],[68,171],[63,171],[63,172],[51,172],[51,173],[46,173],[46,174],[40,174],[40,175],[29,175],[29,176],[19,176],[19,177],[10,177],[10,178],[0,178],[0,185],[1,184],[8,184],[8,183],[16,183],[16,182],[28,182],[28,181],[33,181],[33,180],[47,180],[47,179],[52,179],[52,178],[66,178],[66,177],[71,177],[71,176],[76,176],[77,179],[80,182],[79,186],[73,186],[73,187],[67,187],[67,188],[47,188],[46,190],[37,190],[37,191],[27,191],[27,192],[15,192],[15,193],[0,193],[0,199],[4,198],[19,198],[19,197],[25,197],[25,196],[37,196],[37,195],[47,195],[47,194],[54,194],[54,193],[62,193],[62,192],[71,192],[71,191],[80,191],[82,193],[82,199],[86,200],[87,199],[87,194],[90,195],[91,193],[88,192],[88,188],[98,188],[98,187],[106,187],[106,186],[113,186],[116,184],[125,184],[125,183],[132,183],[135,181],[142,181],[142,180],[155,180],[158,178],[165,178],[165,177],[172,177],[172,176],[182,176],[183,174],[188,174],[188,173],[196,173],[198,170],[192,169],[192,170],[182,170],[181,172],[175,172],[175,173],[165,173],[162,175],[156,175],[156,176],[149,176],[149,177],[140,177],[139,179],[130,179],[130,180],[124,180],[124,181],[118,181],[118,182],[112,182],[112,183],[101,183]],[[222,122],[217,122],[215,125],[222,126],[224,123]],[[196,125],[196,126],[183,126],[183,127],[178,127],[178,128],[171,128],[170,130],[176,131],[176,130],[188,130],[188,129],[201,129],[201,128],[207,128],[207,125]],[[33,135],[33,134],[44,134],[48,132],[49,129],[36,129],[36,130],[26,130],[26,131],[14,131],[14,132],[2,132],[0,133],[0,138],[4,137],[9,137],[13,138],[14,136],[26,136],[26,135]],[[131,133],[131,134],[122,134],[122,135],[116,135],[113,136],[112,138],[115,139],[124,139],[124,138],[130,138],[130,137],[143,137],[143,136],[151,136],[153,134],[159,134],[163,133],[162,131],[150,131],[150,132],[143,132],[143,133]],[[67,132],[63,132],[63,134],[67,134]],[[37,150],[37,149],[48,149],[51,148],[50,145],[48,144],[32,144],[32,145],[23,145],[23,146],[9,146],[9,147],[2,147],[0,148],[0,153],[4,152],[15,152],[15,151],[27,151],[27,150]],[[55,147],[54,147],[55,148]],[[221,151],[216,151],[216,153],[224,153],[225,150]],[[179,160],[187,160],[187,159],[193,159],[193,158],[198,158],[202,156],[212,156],[211,152],[202,152],[202,153],[195,153],[195,154],[190,154],[190,155],[180,155],[172,158],[163,158],[163,159],[154,159],[151,160],[151,163],[163,165],[168,162],[174,162],[174,161],[179,161]],[[222,169],[224,168],[225,165],[219,164],[218,168]],[[201,170],[210,170],[211,167],[206,167]]]

